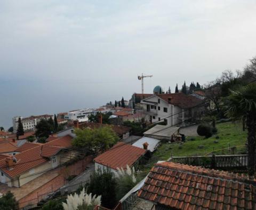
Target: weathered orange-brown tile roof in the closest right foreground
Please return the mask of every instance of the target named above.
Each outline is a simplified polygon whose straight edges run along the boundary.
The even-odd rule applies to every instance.
[[[256,209],[256,180],[164,162],[151,169],[138,196],[173,209]]]

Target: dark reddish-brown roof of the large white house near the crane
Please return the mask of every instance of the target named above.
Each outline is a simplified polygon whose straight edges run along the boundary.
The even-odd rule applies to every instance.
[[[182,109],[194,107],[203,102],[193,95],[186,95],[184,93],[159,94],[157,96],[166,102],[173,104],[174,106],[178,106]]]

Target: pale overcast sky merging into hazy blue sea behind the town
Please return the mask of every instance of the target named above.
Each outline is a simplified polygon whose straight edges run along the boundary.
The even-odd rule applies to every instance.
[[[0,1],[0,126],[205,84],[256,56],[256,1]]]

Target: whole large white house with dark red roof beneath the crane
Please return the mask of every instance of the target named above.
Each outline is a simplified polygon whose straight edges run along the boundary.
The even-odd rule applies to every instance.
[[[141,104],[148,122],[165,121],[170,126],[193,121],[205,110],[203,100],[184,93],[153,95],[141,100]]]

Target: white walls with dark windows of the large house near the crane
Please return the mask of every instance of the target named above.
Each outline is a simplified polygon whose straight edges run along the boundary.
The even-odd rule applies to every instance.
[[[182,119],[180,119],[182,116],[174,115],[178,112],[181,112],[182,109],[166,102],[165,100],[159,98],[157,95],[153,95],[147,99],[142,100],[141,104],[143,106],[143,111],[147,116],[147,120],[150,123],[165,121],[167,122],[167,125],[173,126],[182,122]]]

